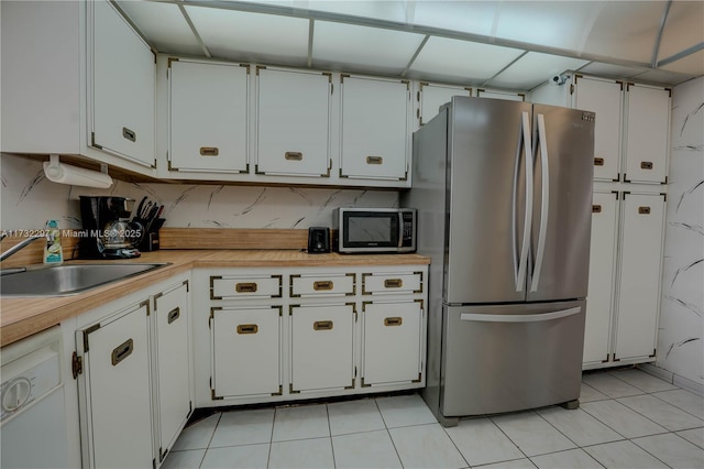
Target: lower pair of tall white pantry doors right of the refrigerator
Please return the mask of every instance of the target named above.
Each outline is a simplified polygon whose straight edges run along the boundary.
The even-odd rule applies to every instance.
[[[584,369],[654,361],[666,196],[595,192]]]

